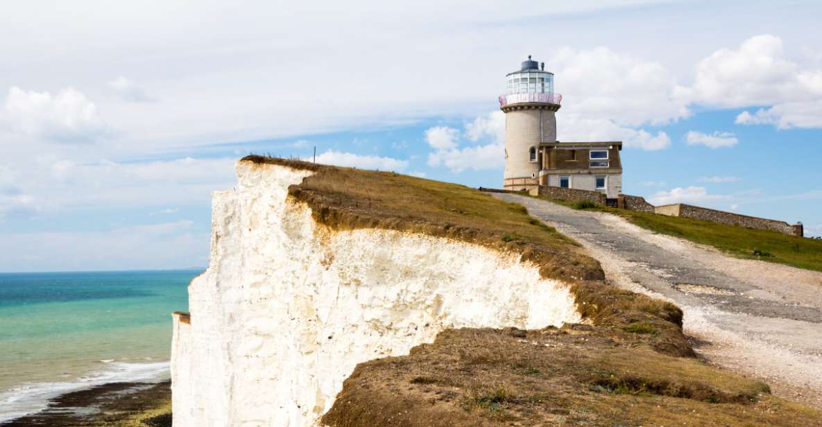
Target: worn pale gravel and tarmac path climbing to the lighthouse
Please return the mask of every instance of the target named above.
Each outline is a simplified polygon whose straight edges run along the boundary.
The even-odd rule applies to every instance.
[[[580,241],[618,286],[679,305],[686,334],[710,363],[822,407],[822,273],[732,258],[610,213],[494,196]]]

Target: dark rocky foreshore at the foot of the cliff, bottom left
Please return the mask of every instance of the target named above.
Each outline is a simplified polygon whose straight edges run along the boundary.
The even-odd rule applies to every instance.
[[[54,397],[48,408],[0,427],[170,427],[171,381],[107,383]]]

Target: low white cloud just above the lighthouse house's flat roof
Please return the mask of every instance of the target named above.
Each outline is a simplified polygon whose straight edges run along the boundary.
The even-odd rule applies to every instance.
[[[606,118],[583,119],[570,115],[563,116],[562,120],[557,122],[557,139],[564,142],[621,140],[624,148],[646,151],[667,149],[671,146],[671,138],[663,131],[652,134],[644,129],[617,125]]]

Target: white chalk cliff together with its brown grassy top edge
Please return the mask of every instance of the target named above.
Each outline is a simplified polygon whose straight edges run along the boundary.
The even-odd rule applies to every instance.
[[[617,331],[617,346],[693,355],[680,310],[610,287],[518,205],[276,158],[243,158],[237,173],[213,197],[191,318],[175,316],[175,425],[314,425],[358,363],[450,328],[584,321]]]

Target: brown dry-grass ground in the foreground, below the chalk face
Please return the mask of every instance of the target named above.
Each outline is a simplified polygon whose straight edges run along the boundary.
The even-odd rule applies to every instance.
[[[634,332],[566,325],[447,330],[408,356],[358,365],[322,425],[819,426],[822,411]]]

